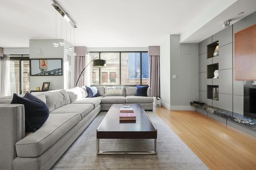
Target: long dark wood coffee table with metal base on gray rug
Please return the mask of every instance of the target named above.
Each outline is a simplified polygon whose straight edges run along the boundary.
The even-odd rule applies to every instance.
[[[97,128],[97,154],[157,154],[157,129],[140,104],[130,104],[136,113],[136,121],[119,121],[119,110],[125,104],[113,104]],[[111,152],[100,151],[100,139],[155,139],[154,151]]]

